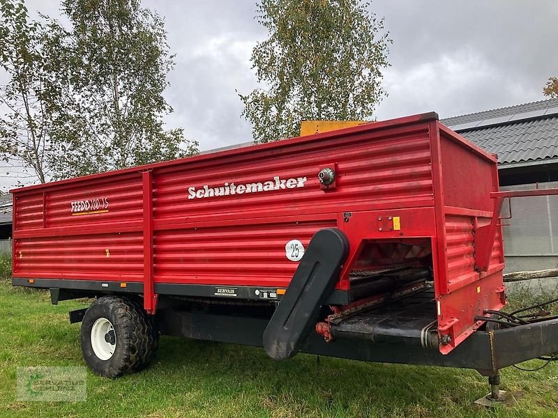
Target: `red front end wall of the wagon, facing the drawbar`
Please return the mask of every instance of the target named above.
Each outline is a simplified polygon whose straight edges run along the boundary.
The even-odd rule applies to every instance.
[[[439,124],[439,123],[438,123]],[[444,235],[439,233],[436,295],[438,324],[451,343],[442,346],[447,353],[482,322],[485,309],[504,306],[504,251],[498,233],[492,249],[490,268],[475,268],[474,231],[490,222],[494,201],[490,192],[498,190],[495,157],[467,143],[455,132],[439,125],[439,163],[442,183],[442,210],[438,210]]]

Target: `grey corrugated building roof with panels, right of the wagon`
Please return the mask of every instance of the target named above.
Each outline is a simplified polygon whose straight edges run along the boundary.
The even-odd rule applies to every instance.
[[[558,162],[558,99],[442,119],[504,167]]]

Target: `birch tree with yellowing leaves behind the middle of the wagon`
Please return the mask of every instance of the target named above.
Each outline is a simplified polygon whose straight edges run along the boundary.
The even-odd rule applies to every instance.
[[[372,118],[391,40],[370,3],[262,0],[256,19],[269,34],[251,56],[262,87],[239,96],[257,141],[297,136],[303,119]]]

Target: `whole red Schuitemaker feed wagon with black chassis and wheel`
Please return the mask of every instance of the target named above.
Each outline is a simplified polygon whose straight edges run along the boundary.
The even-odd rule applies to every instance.
[[[12,190],[13,284],[96,297],[70,320],[105,376],[160,332],[495,384],[558,351],[557,319],[498,315],[502,201],[554,192],[498,192],[495,156],[409,116]]]

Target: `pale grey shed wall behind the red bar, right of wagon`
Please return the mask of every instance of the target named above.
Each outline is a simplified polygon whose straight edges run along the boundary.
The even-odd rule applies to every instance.
[[[501,187],[502,190],[535,189],[536,184]],[[540,189],[558,187],[558,182],[540,183]],[[502,217],[510,211],[504,201]],[[506,272],[558,268],[558,196],[511,199],[511,219],[504,225]]]

